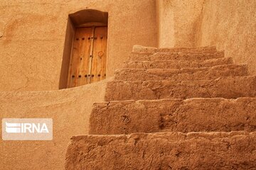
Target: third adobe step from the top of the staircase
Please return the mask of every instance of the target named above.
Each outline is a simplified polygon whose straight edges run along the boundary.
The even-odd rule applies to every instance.
[[[181,69],[188,67],[214,67],[223,64],[233,64],[231,57],[223,57],[218,59],[211,59],[205,61],[188,61],[188,60],[166,60],[166,61],[129,61],[124,62],[123,68],[130,69]]]

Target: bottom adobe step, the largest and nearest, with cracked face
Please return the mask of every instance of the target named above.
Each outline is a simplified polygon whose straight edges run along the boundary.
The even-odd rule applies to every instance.
[[[72,137],[65,169],[255,169],[256,132]]]

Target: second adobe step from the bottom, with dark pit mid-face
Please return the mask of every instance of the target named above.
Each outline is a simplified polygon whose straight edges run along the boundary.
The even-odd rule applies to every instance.
[[[256,98],[191,98],[95,103],[93,135],[256,130]]]

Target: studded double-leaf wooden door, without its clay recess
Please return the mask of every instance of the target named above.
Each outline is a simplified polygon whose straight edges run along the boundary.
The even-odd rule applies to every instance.
[[[76,28],[68,88],[106,78],[107,27]]]

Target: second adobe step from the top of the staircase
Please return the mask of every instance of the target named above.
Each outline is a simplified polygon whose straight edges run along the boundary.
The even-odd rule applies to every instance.
[[[131,61],[155,61],[155,60],[210,60],[224,57],[224,52],[156,52],[134,53],[129,55]]]

